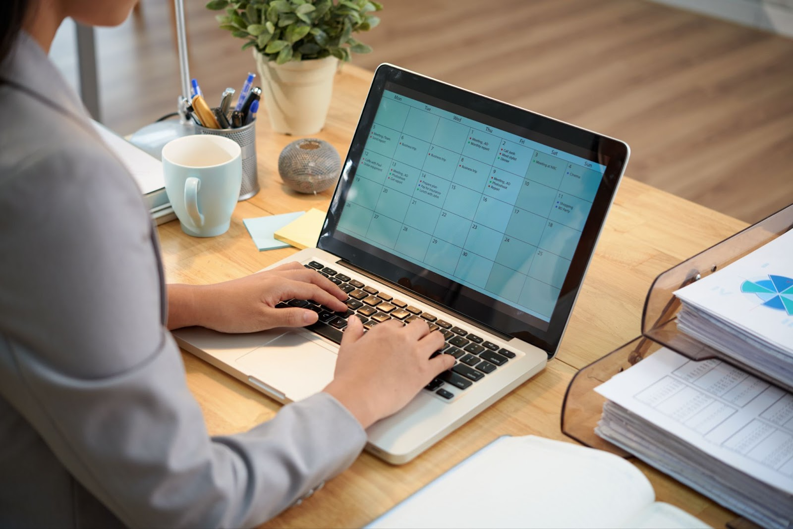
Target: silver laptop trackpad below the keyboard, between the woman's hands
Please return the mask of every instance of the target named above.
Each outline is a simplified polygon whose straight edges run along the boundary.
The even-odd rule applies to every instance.
[[[336,353],[319,337],[300,329],[285,331],[236,361],[253,376],[291,401],[319,393],[333,379]]]

